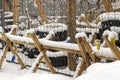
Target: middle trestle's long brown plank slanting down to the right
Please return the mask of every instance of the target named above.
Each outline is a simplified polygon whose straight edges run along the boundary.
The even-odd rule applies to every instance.
[[[41,54],[43,55],[43,59],[45,60],[47,66],[48,66],[49,69],[50,69],[50,71],[51,71],[52,73],[56,73],[55,69],[53,68],[53,66],[52,66],[52,64],[51,64],[51,62],[50,62],[50,60],[49,60],[49,58],[47,57],[47,55],[46,55],[46,53],[45,53],[45,52],[46,52],[45,49],[42,47],[42,45],[41,45],[40,42],[38,41],[36,35],[33,33],[33,34],[31,34],[31,37],[32,37],[32,39],[33,39],[36,47],[38,48],[39,52],[41,52]]]

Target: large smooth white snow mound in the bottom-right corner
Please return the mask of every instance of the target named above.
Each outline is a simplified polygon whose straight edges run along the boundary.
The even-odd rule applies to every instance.
[[[95,63],[87,68],[85,74],[75,80],[120,80],[120,61]]]

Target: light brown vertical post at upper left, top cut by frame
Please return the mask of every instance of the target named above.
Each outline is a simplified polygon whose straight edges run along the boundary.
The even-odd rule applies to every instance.
[[[13,0],[13,24],[19,23],[19,0]]]

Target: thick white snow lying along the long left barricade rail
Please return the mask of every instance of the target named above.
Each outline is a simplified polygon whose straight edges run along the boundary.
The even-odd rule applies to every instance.
[[[27,37],[23,37],[23,36],[21,37],[21,36],[10,35],[10,34],[6,34],[6,35],[11,41],[21,41],[24,43],[34,43],[32,38],[27,38]],[[47,40],[45,38],[39,39],[39,42],[43,46],[51,46],[51,47],[58,47],[58,48],[64,48],[64,49],[79,50],[78,45],[74,44],[74,43],[50,41],[50,40]]]

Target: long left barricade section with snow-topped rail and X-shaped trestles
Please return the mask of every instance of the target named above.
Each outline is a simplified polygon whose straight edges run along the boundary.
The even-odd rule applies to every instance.
[[[0,66],[2,66],[2,63],[3,63],[5,56],[8,52],[8,48],[10,48],[12,53],[17,56],[18,62],[21,65],[21,68],[25,67],[25,65],[22,62],[22,60],[20,59],[19,55],[16,53],[15,45],[13,46],[11,43],[34,46],[34,47],[38,48],[38,50],[41,54],[41,57],[38,59],[38,62],[35,65],[35,67],[33,68],[32,72],[37,71],[40,63],[42,62],[42,59],[44,59],[45,63],[49,67],[50,71],[52,73],[56,73],[55,69],[51,65],[49,58],[46,55],[46,50],[58,50],[58,51],[65,51],[65,52],[81,55],[83,59],[82,59],[82,63],[81,63],[81,69],[80,69],[80,71],[78,71],[78,75],[82,74],[82,72],[90,65],[87,54],[85,54],[86,53],[85,48],[82,48],[83,43],[82,44],[78,43],[78,45],[77,45],[74,43],[55,42],[55,41],[50,41],[50,40],[46,39],[47,43],[45,44],[45,43],[42,43],[45,40],[38,39],[34,33],[31,34],[31,38],[21,37],[21,36],[16,36],[16,35],[7,35],[4,32],[1,32],[0,34],[2,35],[1,39],[7,43],[7,45],[5,46],[5,49],[4,49],[2,59],[0,60]],[[81,40],[77,39],[77,41],[81,41]],[[49,44],[56,44],[57,46],[56,45],[48,45],[48,43]],[[66,48],[64,46],[58,47],[59,45],[64,45],[64,46],[68,45],[68,46],[73,46],[73,47],[75,46],[77,49],[76,48],[72,49],[71,47]],[[82,52],[81,52],[81,50],[82,50]]]

